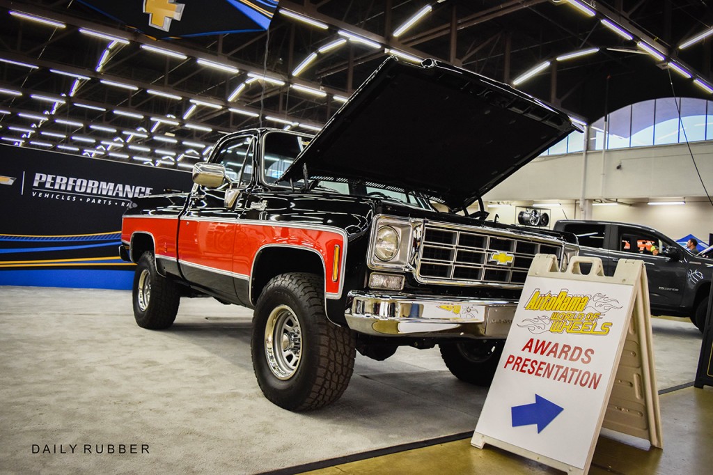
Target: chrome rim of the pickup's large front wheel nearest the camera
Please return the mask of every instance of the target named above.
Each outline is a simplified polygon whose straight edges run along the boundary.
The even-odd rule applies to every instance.
[[[265,325],[265,357],[272,374],[278,379],[289,379],[299,367],[302,354],[302,329],[294,312],[287,305],[279,305],[270,312]]]

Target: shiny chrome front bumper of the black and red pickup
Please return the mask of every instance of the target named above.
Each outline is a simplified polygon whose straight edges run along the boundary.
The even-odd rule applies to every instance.
[[[505,338],[517,301],[349,292],[349,328],[379,337]]]

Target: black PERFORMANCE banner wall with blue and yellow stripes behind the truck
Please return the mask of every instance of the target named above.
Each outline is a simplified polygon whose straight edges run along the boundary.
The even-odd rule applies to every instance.
[[[179,170],[0,145],[0,285],[129,289],[124,210],[192,185]]]

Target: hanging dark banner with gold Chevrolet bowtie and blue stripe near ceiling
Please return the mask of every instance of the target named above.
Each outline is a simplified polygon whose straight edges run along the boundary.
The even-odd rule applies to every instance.
[[[278,0],[78,0],[159,38],[267,30]]]

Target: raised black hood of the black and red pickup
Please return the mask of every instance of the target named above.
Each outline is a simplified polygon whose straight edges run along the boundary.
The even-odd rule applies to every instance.
[[[389,58],[315,136],[282,179],[364,180],[461,208],[575,130],[506,84],[426,60]]]

